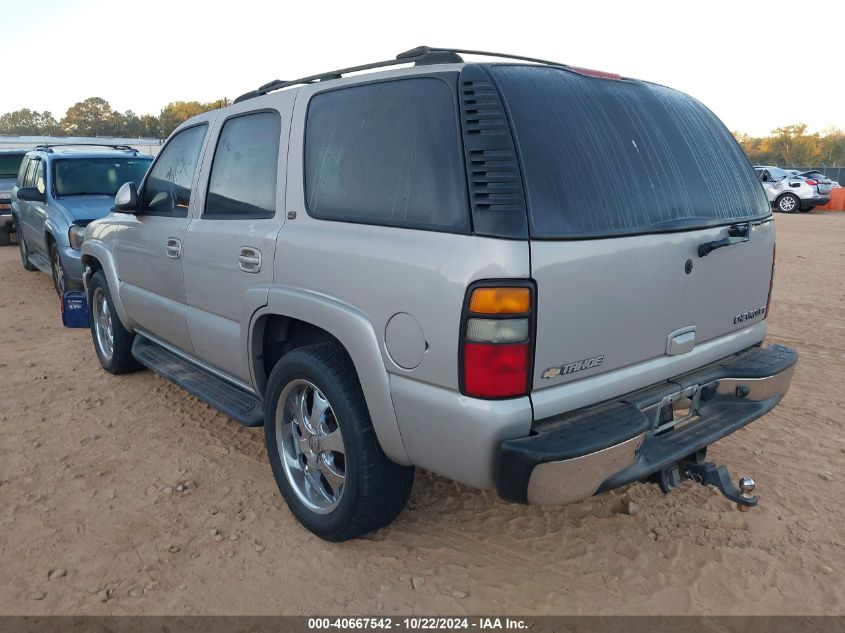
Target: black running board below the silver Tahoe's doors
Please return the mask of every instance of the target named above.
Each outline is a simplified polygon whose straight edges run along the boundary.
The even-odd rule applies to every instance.
[[[261,400],[170,350],[138,334],[132,356],[163,378],[175,382],[188,393],[207,402],[244,426],[264,424]]]

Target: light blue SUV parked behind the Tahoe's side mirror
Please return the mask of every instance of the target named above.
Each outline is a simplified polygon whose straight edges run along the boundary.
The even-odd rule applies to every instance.
[[[59,295],[82,287],[79,247],[124,182],[143,178],[152,156],[131,147],[40,145],[27,152],[12,194],[21,263],[53,277]]]

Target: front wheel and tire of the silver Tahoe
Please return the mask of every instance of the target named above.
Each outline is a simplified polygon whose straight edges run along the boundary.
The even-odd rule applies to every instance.
[[[98,270],[91,277],[89,290],[88,324],[100,365],[111,374],[137,371],[141,365],[132,356],[135,335],[121,323],[103,271]]]

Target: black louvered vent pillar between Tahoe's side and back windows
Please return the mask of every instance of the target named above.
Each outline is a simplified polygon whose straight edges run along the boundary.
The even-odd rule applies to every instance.
[[[474,231],[527,238],[522,175],[499,92],[480,66],[465,66],[458,81]]]

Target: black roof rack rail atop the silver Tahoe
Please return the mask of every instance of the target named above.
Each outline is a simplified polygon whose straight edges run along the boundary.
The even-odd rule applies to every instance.
[[[425,66],[429,64],[459,64],[464,61],[463,58],[461,58],[461,54],[482,55],[485,57],[502,57],[505,59],[519,59],[526,62],[534,62],[537,64],[545,64],[548,66],[562,66],[564,68],[568,68],[566,64],[550,62],[548,60],[537,59],[535,57],[508,55],[507,53],[490,53],[487,51],[474,51],[463,48],[433,48],[431,46],[417,46],[416,48],[412,48],[411,50],[405,51],[404,53],[399,53],[395,59],[387,59],[381,62],[363,64],[361,66],[351,66],[349,68],[341,68],[340,70],[331,70],[329,72],[319,73],[316,75],[309,75],[308,77],[302,77],[301,79],[292,79],[288,81],[277,79],[275,81],[270,81],[264,84],[263,86],[259,86],[256,90],[251,90],[250,92],[242,94],[240,97],[235,99],[234,103],[240,103],[241,101],[246,101],[247,99],[260,97],[262,95],[267,94],[268,92],[281,90],[282,88],[288,88],[289,86],[310,84],[315,83],[317,81],[326,81],[328,79],[340,79],[343,77],[343,75],[360,72],[362,70],[386,68],[389,66],[397,66],[399,64],[408,64],[411,62],[413,62],[416,66]]]

